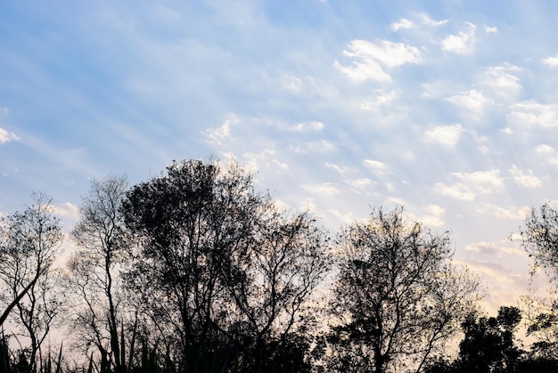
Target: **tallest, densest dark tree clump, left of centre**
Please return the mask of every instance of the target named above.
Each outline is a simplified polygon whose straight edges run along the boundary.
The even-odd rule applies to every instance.
[[[188,369],[206,356],[266,367],[311,327],[302,315],[328,272],[324,231],[308,213],[278,211],[241,167],[174,163],[123,206],[137,246],[127,287]]]

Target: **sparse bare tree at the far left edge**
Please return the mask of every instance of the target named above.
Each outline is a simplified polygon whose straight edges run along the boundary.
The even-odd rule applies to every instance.
[[[41,345],[49,334],[61,300],[53,292],[53,261],[62,245],[60,221],[53,215],[52,200],[34,193],[34,204],[0,221],[0,282],[6,305],[0,326],[12,310],[13,322],[29,337],[29,363],[37,364]]]

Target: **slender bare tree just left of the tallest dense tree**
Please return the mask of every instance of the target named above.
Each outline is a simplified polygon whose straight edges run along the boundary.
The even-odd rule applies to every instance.
[[[95,345],[117,372],[126,369],[118,268],[124,242],[121,204],[126,191],[125,176],[91,181],[79,207],[79,221],[71,231],[78,250],[68,262],[68,284],[76,298],[73,325],[82,342]]]

